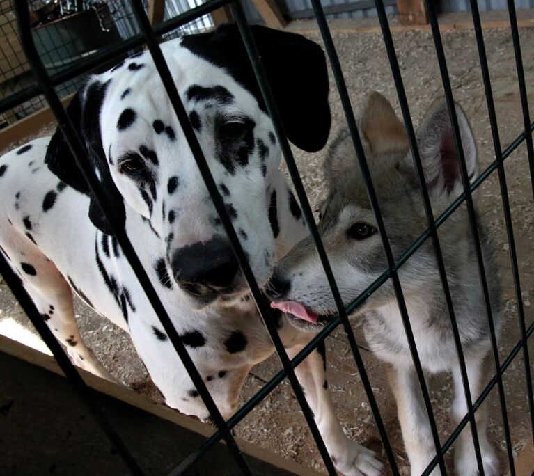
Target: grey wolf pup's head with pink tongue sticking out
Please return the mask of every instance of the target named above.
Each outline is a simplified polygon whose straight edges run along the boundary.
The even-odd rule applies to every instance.
[[[476,177],[475,141],[460,106],[456,106],[456,113],[472,180]],[[427,228],[405,127],[391,104],[382,95],[372,93],[363,106],[359,131],[393,256],[398,258]],[[439,216],[462,191],[444,100],[435,102],[427,112],[418,129],[417,142],[434,216]],[[318,228],[347,305],[387,269],[375,214],[347,132],[342,132],[333,142],[324,163],[324,175],[329,194],[320,207]],[[462,211],[458,212],[440,228],[444,253],[454,251],[466,237],[468,228]],[[403,264],[400,276],[407,296],[421,292],[428,280],[437,278],[429,242]],[[290,322],[299,328],[317,331],[336,313],[311,237],[300,241],[278,262],[268,289],[275,300],[272,306],[285,311]],[[393,299],[392,287],[386,283],[373,294],[370,306],[381,306]]]

